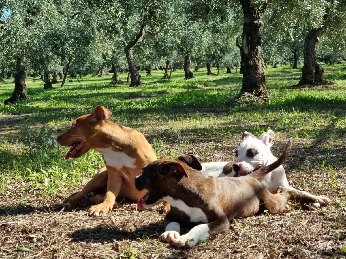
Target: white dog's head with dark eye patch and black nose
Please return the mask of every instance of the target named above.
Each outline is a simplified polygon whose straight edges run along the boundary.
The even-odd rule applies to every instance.
[[[267,165],[268,157],[272,155],[270,148],[274,143],[274,136],[274,132],[268,130],[257,139],[251,133],[244,131],[243,142],[236,150],[233,171],[238,176],[244,176]]]

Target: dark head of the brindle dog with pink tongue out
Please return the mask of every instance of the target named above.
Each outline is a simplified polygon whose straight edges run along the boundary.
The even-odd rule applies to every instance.
[[[185,154],[176,159],[156,160],[143,168],[143,173],[135,178],[137,190],[148,190],[137,202],[140,210],[151,208],[170,195],[170,191],[183,178],[189,177],[188,171],[202,170],[197,157]],[[173,187],[173,188],[172,188]]]

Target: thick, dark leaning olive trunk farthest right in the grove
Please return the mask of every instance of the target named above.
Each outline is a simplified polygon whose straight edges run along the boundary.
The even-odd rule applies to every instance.
[[[322,85],[327,81],[323,79],[324,69],[317,63],[315,47],[319,42],[323,26],[309,31],[304,42],[304,66],[302,77],[298,85]]]

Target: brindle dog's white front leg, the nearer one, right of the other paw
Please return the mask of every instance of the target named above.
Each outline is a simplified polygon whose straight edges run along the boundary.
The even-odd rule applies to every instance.
[[[197,244],[198,241],[210,237],[208,224],[200,224],[191,229],[185,235],[177,238],[175,246],[190,248]]]

